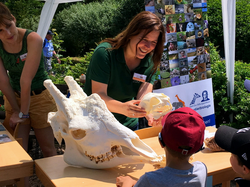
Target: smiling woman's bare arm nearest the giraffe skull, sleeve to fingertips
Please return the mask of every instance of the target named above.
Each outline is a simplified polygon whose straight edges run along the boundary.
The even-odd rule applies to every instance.
[[[140,106],[137,106],[137,104],[140,103],[139,100],[131,100],[123,103],[107,95],[107,84],[96,82],[93,80],[91,81],[91,84],[92,93],[97,93],[105,101],[110,112],[123,114],[130,118],[145,117],[146,111]]]

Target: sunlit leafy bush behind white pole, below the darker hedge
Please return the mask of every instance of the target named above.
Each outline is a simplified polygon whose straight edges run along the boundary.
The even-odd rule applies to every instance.
[[[227,96],[225,61],[219,59],[216,47],[213,44],[210,46],[216,125],[227,124],[235,128],[247,127],[250,125],[250,94],[244,87],[244,81],[250,79],[250,64],[241,61],[235,62],[234,104],[231,104]],[[231,114],[232,123],[229,117]]]

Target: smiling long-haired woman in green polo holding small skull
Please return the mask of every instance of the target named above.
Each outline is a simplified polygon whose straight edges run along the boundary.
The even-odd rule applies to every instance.
[[[97,93],[116,119],[137,130],[138,118],[146,117],[150,126],[161,125],[138,106],[153,90],[155,72],[165,42],[161,20],[149,11],[137,14],[115,38],[106,38],[95,49],[84,91]]]

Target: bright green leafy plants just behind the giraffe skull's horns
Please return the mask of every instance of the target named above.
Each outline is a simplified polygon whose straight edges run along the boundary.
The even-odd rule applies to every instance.
[[[50,79],[54,84],[66,84],[64,81],[65,76],[72,76],[74,79],[79,79],[81,74],[86,74],[93,53],[94,49],[91,49],[83,57],[61,59],[61,64],[53,60],[52,71],[55,72],[55,75],[50,75]]]

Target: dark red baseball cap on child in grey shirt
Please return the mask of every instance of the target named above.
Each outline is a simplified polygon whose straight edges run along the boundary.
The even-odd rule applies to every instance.
[[[170,149],[183,155],[200,150],[206,125],[203,118],[189,107],[178,108],[162,119],[161,139]]]

